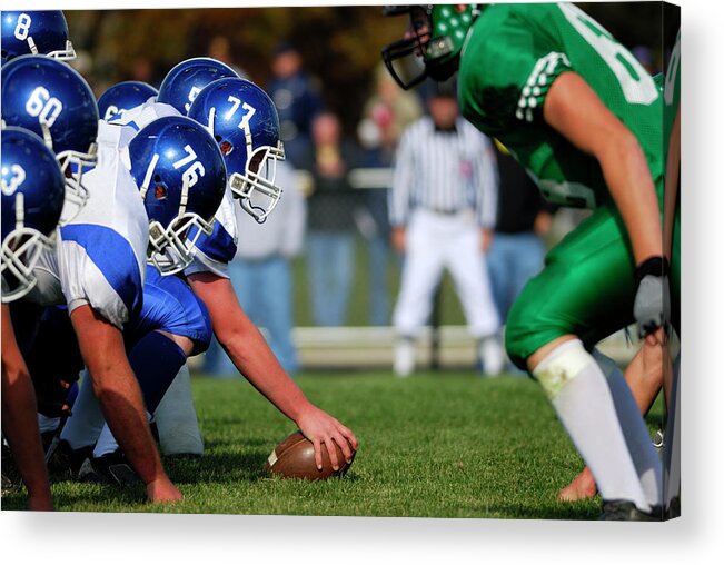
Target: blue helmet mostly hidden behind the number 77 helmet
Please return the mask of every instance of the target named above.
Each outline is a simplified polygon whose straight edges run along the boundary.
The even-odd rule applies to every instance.
[[[209,57],[187,59],[173,67],[158,90],[159,102],[171,105],[186,116],[196,96],[210,82],[224,78],[238,78],[237,72]]]

